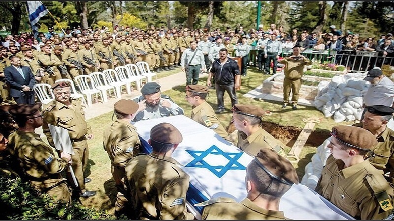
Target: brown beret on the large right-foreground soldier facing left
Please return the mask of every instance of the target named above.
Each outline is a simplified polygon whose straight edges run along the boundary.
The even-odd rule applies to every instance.
[[[330,134],[341,143],[360,150],[372,150],[378,143],[371,132],[361,127],[338,125]]]

